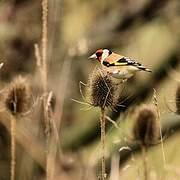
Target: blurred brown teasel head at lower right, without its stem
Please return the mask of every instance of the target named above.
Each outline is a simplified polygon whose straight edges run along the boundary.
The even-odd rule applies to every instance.
[[[141,145],[148,146],[154,144],[159,136],[159,128],[156,113],[152,107],[142,106],[136,117],[134,124],[134,138]]]

